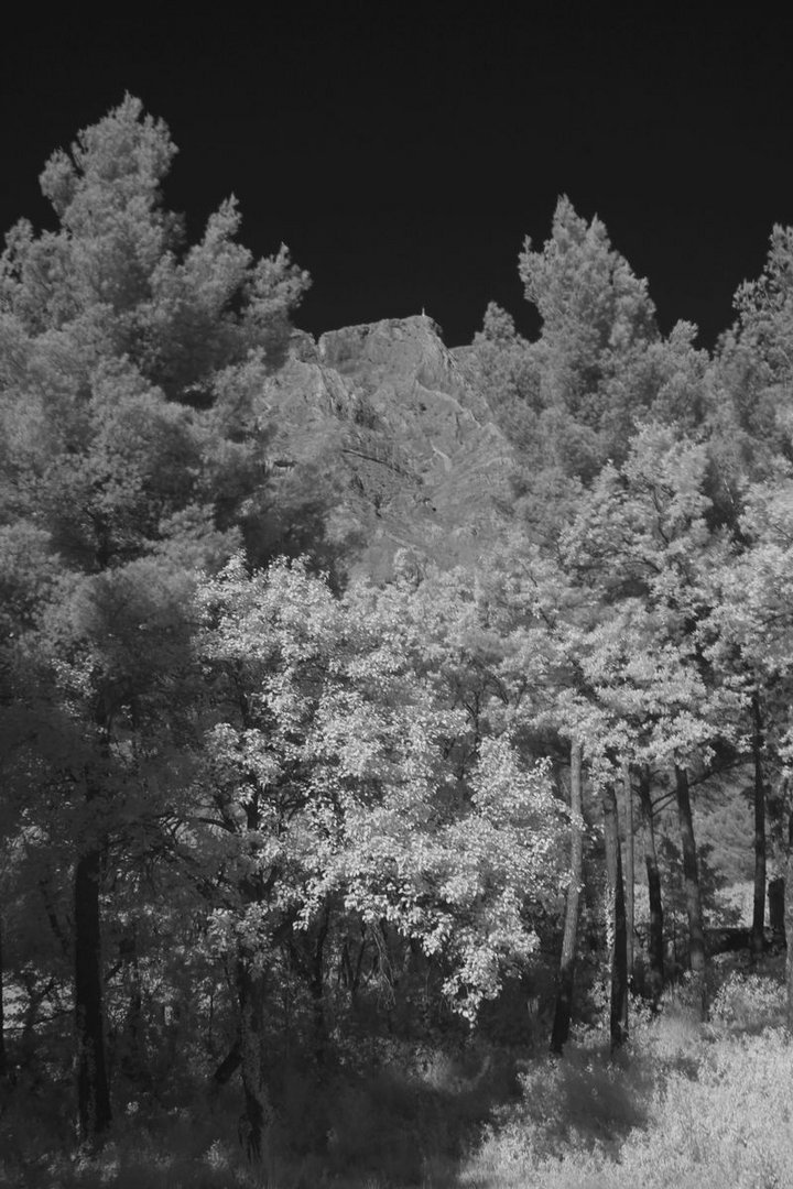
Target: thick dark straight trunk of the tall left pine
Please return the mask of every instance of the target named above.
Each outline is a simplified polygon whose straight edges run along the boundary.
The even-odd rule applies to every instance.
[[[90,1146],[112,1121],[102,1009],[100,876],[101,855],[93,848],[77,858],[75,867],[77,1127],[80,1140]]]

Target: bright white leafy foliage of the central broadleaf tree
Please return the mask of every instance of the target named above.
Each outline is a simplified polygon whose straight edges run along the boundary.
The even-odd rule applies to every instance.
[[[215,721],[196,839],[237,889],[215,936],[265,961],[285,919],[308,927],[340,904],[442,955],[473,1017],[536,945],[565,816],[514,743],[503,634],[472,580],[336,598],[301,562],[250,575],[237,559],[199,603]]]

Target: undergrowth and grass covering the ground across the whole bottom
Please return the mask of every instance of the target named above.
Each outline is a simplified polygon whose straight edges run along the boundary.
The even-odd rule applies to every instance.
[[[65,1155],[45,1095],[5,1102],[0,1185],[31,1189],[783,1189],[793,1168],[793,1044],[779,960],[726,963],[700,1023],[685,984],[609,1059],[581,1030],[564,1059],[470,1045],[385,1048],[377,1068],[287,1080],[263,1166],[229,1092],[134,1103],[95,1157]],[[54,1099],[55,1103],[55,1099]]]

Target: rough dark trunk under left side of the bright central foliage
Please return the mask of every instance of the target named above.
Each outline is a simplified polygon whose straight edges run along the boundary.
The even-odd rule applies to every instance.
[[[272,1112],[265,1086],[264,986],[251,960],[237,960],[237,994],[240,1008],[240,1056],[245,1111],[240,1119],[240,1141],[248,1160],[266,1158]]]

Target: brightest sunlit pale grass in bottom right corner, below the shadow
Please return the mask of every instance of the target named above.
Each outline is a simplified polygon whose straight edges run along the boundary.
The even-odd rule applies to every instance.
[[[493,1133],[460,1177],[468,1189],[786,1189],[792,1183],[793,1071],[787,1033],[723,1037],[696,1076],[667,1074],[646,1118],[606,1143],[585,1128],[550,1155],[530,1131]]]

